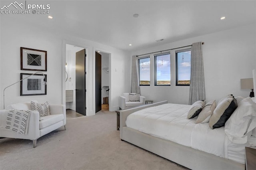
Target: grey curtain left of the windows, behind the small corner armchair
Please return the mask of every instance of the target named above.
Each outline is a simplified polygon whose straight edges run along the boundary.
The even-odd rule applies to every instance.
[[[140,84],[138,76],[138,59],[136,55],[132,56],[132,93],[140,93]]]

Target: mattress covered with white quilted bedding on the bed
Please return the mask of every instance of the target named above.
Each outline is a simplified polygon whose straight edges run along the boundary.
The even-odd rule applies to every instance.
[[[190,105],[164,104],[130,114],[126,126],[184,146],[208,152],[245,164],[245,146],[234,144],[224,132],[224,127],[211,129],[208,123],[196,124],[187,119]]]

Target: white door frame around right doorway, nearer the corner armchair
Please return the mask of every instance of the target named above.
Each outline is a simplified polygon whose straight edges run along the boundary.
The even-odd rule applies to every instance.
[[[108,53],[108,63],[109,63],[109,75],[108,75],[108,78],[109,78],[109,91],[108,91],[108,110],[111,111],[111,108],[112,108],[112,102],[111,102],[111,53],[104,50],[104,49],[100,49],[100,48],[93,48],[93,70],[94,70],[94,73],[93,73],[93,77],[95,77],[95,63],[96,63],[96,56],[95,56],[95,52],[97,51],[100,51],[100,52],[103,52],[103,53]],[[93,91],[94,91],[94,96],[95,96],[95,78],[94,78],[94,81],[93,81]],[[94,101],[93,101],[93,107],[94,107],[94,113],[95,113],[95,97],[94,97]]]

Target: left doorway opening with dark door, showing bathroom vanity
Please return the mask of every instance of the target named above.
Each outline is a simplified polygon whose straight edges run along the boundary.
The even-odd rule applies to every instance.
[[[86,95],[85,93],[82,92],[86,88],[85,71],[82,71],[80,69],[83,72],[82,77],[84,77],[84,80],[77,78],[79,74],[76,73],[76,53],[78,51],[80,51],[80,54],[86,55],[86,51],[84,48],[77,47],[75,45],[66,44],[66,109],[71,109],[73,111],[76,111],[77,113],[80,113],[81,115],[86,115],[86,112],[85,112]],[[80,63],[82,63],[82,67],[85,70],[85,67],[86,67],[85,56],[84,57],[82,56],[81,58],[84,61],[80,61]],[[81,82],[77,82],[77,80],[82,81],[82,84]],[[77,85],[79,84],[81,84],[80,87],[79,86],[77,87]],[[77,94],[78,91],[80,93],[81,92],[83,93],[81,94],[82,94],[82,99],[84,99],[84,101],[80,101],[81,97],[77,99],[77,95],[78,96],[81,95],[81,94]],[[81,102],[83,103],[83,105],[81,105]],[[82,107],[84,107],[84,110],[77,111],[77,109],[79,109],[78,105],[81,105]]]

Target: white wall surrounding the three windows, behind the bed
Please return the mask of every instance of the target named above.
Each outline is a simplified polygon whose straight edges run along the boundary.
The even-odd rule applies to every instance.
[[[250,89],[240,89],[240,79],[252,77],[256,67],[256,26],[254,24],[168,43],[150,49],[134,51],[140,55],[154,51],[172,49],[191,45],[193,42],[204,42],[204,76],[206,100],[220,99],[224,95],[248,97]],[[141,95],[154,102],[168,100],[169,103],[188,104],[189,87],[175,86],[175,50],[171,51],[171,86],[140,86]],[[153,58],[153,57],[152,57]],[[154,62],[151,60],[150,62]],[[154,80],[154,67],[151,67],[151,81]]]

